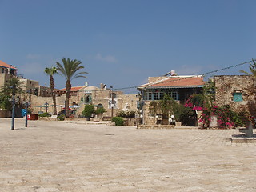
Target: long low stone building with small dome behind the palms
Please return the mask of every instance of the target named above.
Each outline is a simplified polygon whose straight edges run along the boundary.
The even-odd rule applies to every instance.
[[[66,101],[66,89],[56,90],[57,97],[57,110],[63,110]],[[82,110],[85,105],[92,104],[96,107],[104,107],[106,113],[104,116],[111,116],[111,107],[112,107],[112,94],[113,94],[113,110],[114,116],[117,114],[118,110],[137,110],[137,97],[135,94],[123,94],[122,91],[112,91],[107,89],[106,85],[102,84],[97,86],[88,86],[86,82],[85,86],[74,86],[70,91],[70,106],[73,104],[78,105],[79,108],[76,111],[77,115],[82,114]],[[42,98],[42,97],[32,97],[32,107],[34,106],[34,113],[38,113],[40,110],[44,110],[44,103],[49,103],[50,107],[48,112],[53,112],[52,98]],[[42,106],[35,107],[35,106]],[[60,107],[61,106],[61,107]]]

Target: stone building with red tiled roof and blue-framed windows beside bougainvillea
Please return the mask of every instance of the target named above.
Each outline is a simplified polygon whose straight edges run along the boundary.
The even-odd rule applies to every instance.
[[[164,94],[170,95],[179,103],[185,103],[191,94],[202,93],[202,87],[205,84],[202,75],[178,76],[173,71],[168,74],[171,75],[150,77],[148,83],[138,86],[138,90],[141,92],[140,106],[142,107],[143,124],[168,123],[169,117],[162,114],[152,116],[149,111],[150,102],[162,100]]]

